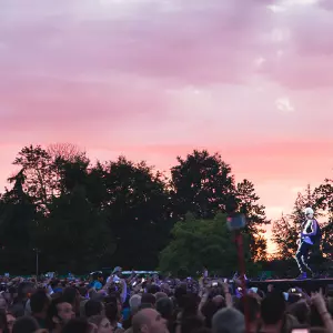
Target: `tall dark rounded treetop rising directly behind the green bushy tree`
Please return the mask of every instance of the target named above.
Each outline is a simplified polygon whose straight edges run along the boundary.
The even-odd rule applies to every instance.
[[[185,160],[178,157],[171,169],[174,211],[182,219],[212,219],[219,212],[234,211],[235,183],[229,164],[219,154],[194,150]]]

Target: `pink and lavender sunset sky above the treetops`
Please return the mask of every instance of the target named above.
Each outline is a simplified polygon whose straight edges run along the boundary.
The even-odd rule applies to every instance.
[[[332,31],[333,0],[2,0],[0,188],[30,143],[206,148],[287,213],[332,175]]]

